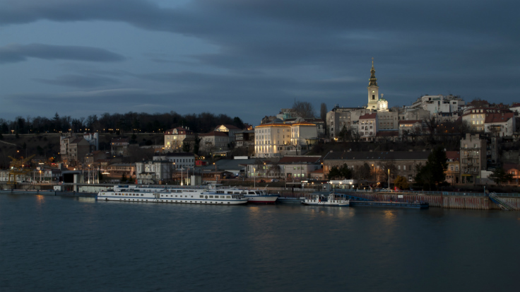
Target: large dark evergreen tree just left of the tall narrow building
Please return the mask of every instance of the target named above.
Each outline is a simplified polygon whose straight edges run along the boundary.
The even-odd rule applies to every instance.
[[[424,166],[420,164],[415,166],[417,171],[415,184],[422,185],[430,190],[434,186],[437,189],[439,185],[445,184],[446,174],[444,171],[448,167],[447,160],[446,152],[442,147],[439,146],[433,149]]]

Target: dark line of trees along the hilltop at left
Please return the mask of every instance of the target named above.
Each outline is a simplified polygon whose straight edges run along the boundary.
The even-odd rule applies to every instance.
[[[148,114],[146,112],[127,112],[126,114],[105,112],[100,115],[72,118],[60,117],[58,113],[47,117],[16,117],[14,120],[0,119],[2,134],[41,134],[59,132],[100,132],[100,133],[157,133],[175,127],[189,127],[196,133],[212,131],[219,124],[232,124],[243,129],[240,117],[213,115],[209,112],[179,115],[177,112]]]

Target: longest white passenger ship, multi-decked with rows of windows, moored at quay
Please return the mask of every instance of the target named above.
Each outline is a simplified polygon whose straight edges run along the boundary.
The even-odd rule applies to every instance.
[[[248,202],[240,192],[231,194],[223,190],[137,186],[116,186],[113,191],[99,192],[98,200],[178,204],[245,204]]]

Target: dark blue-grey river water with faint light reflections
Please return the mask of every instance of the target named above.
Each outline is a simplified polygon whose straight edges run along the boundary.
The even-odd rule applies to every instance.
[[[519,291],[520,212],[0,194],[0,291]]]

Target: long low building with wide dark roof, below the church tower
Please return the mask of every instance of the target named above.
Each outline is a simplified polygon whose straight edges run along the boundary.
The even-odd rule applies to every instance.
[[[370,167],[373,182],[386,182],[387,170],[393,168],[390,179],[397,175],[406,177],[409,182],[414,182],[415,165],[426,164],[431,151],[388,151],[388,152],[329,152],[323,158],[324,177],[328,177],[331,168],[340,168],[347,164],[352,170],[358,170],[365,166]]]

